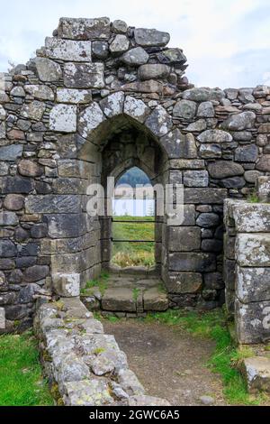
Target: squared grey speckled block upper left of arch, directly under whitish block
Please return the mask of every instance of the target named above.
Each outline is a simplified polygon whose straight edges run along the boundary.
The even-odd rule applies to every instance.
[[[67,88],[103,88],[103,63],[67,63],[64,84]]]

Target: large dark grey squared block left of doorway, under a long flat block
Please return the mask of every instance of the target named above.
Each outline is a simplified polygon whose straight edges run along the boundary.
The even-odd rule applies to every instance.
[[[45,218],[48,221],[49,236],[51,238],[79,237],[86,232],[84,214],[45,215]]]

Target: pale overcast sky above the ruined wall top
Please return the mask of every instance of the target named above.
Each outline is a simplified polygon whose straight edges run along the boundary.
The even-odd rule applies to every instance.
[[[270,0],[0,0],[0,71],[25,63],[61,16],[122,19],[171,33],[196,86],[270,85]]]

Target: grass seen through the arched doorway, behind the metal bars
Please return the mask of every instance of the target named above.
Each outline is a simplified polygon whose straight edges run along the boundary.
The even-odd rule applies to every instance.
[[[115,217],[118,220],[146,220],[147,223],[117,223],[112,225],[112,235],[117,240],[149,240],[146,243],[113,243],[112,263],[126,268],[128,266],[150,267],[155,264],[155,218],[154,217]]]

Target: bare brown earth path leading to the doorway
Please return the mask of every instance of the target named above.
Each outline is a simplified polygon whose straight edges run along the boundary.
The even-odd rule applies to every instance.
[[[215,405],[225,405],[222,383],[206,366],[214,343],[183,330],[137,320],[103,322],[128,356],[147,394],[165,398],[174,406],[202,405],[208,395]]]

